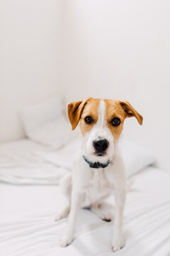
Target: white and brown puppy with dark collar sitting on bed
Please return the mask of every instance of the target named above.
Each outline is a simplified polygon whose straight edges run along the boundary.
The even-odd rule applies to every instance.
[[[56,220],[69,214],[67,230],[60,245],[65,247],[74,239],[79,208],[88,207],[103,220],[112,216],[100,208],[101,201],[114,193],[115,220],[112,248],[123,247],[123,209],[125,206],[126,178],[123,159],[118,150],[118,138],[126,117],[142,116],[125,101],[89,98],[68,105],[72,129],[80,122],[81,149],[74,163],[72,174],[62,180],[62,191],[67,196],[67,206],[57,214]]]

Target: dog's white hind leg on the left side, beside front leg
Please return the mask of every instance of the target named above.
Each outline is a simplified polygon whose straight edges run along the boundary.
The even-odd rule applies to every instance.
[[[65,206],[58,210],[55,220],[61,220],[62,218],[66,218],[69,215],[70,210],[70,200],[71,200],[71,193],[72,193],[72,174],[67,174],[62,178],[60,183],[60,188],[62,193],[64,194]]]

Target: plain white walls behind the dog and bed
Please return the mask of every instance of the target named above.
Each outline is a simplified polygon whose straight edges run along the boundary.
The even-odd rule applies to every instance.
[[[170,2],[1,0],[0,142],[23,138],[18,110],[54,94],[128,100],[124,137],[169,169]]]

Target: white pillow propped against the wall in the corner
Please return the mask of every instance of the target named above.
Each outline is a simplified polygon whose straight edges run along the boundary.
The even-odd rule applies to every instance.
[[[59,149],[74,137],[63,114],[61,97],[27,106],[20,114],[26,136],[34,142]]]

